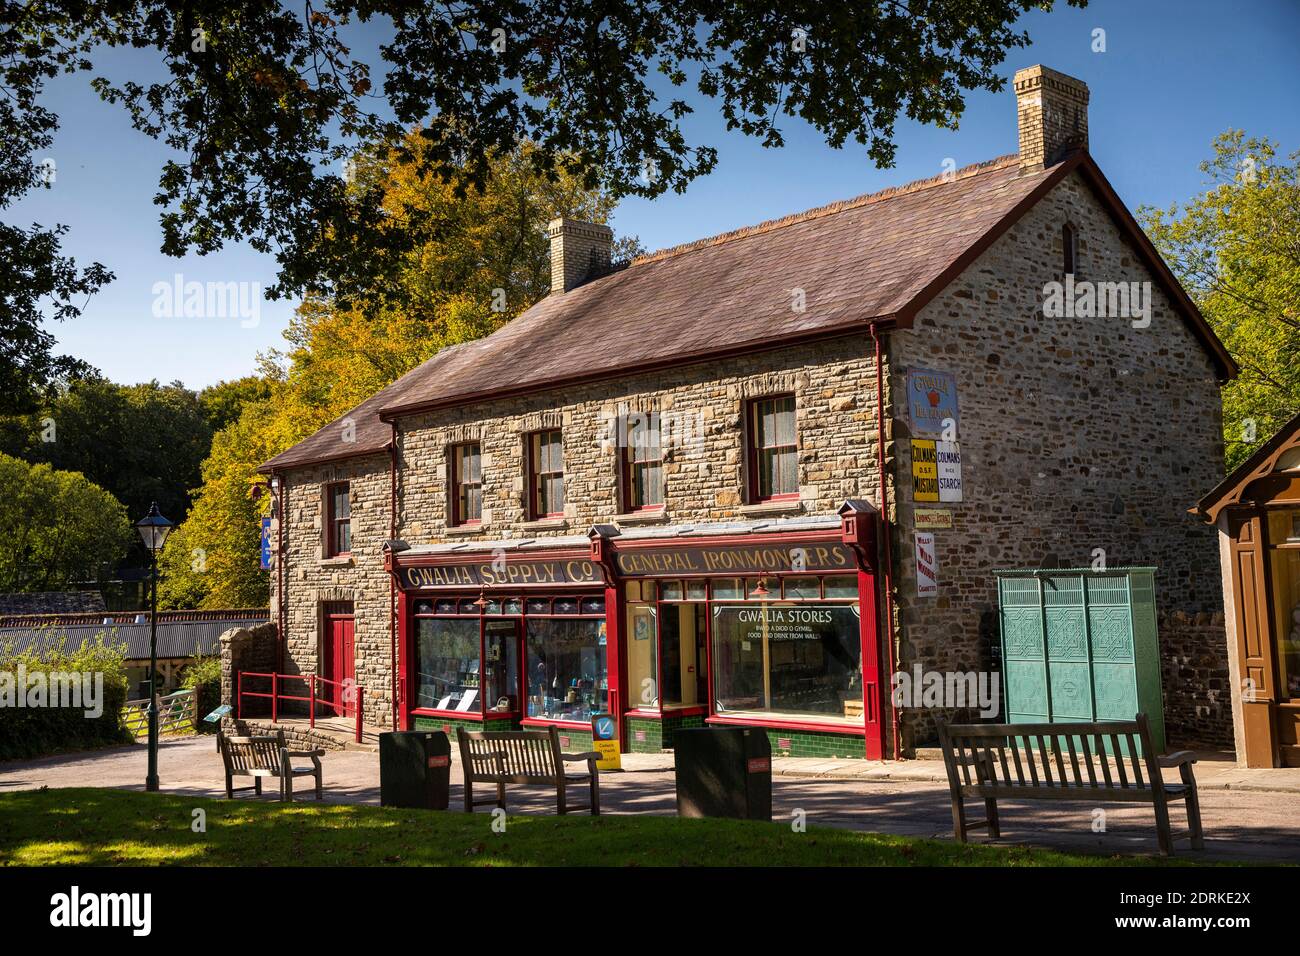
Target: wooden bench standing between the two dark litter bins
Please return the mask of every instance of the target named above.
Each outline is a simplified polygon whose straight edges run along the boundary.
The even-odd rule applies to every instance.
[[[465,775],[465,813],[474,806],[495,804],[506,809],[506,784],[555,787],[556,813],[592,810],[601,814],[601,777],[595,762],[601,754],[562,753],[560,732],[555,727],[546,731],[467,731],[460,740],[460,766]],[[571,774],[566,763],[586,763],[586,773]],[[497,784],[495,797],[474,800],[476,783]],[[568,788],[588,784],[590,799],[586,804],[571,806]]]

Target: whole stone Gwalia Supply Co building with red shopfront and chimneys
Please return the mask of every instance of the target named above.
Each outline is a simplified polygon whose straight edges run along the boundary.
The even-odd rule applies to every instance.
[[[1153,564],[1170,736],[1230,739],[1187,509],[1235,367],[1088,155],[1087,87],[1015,95],[1018,153],[627,265],[552,222],[547,298],[264,466],[278,670],[377,726],[902,756],[953,708],[890,675],[997,667],[996,568]]]

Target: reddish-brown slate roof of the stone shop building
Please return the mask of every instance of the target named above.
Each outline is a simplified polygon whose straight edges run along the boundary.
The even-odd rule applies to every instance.
[[[1010,155],[663,250],[551,294],[491,336],[439,351],[343,416],[356,421],[356,444],[341,442],[333,423],[263,471],[381,450],[391,440],[387,420],[416,411],[771,349],[871,323],[910,325],[1075,169],[1231,377],[1231,358],[1087,152],[1039,172],[1022,172]],[[796,289],[805,294],[802,312],[790,307]]]

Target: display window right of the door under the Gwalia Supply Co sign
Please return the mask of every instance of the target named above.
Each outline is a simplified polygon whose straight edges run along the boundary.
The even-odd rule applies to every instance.
[[[525,643],[529,717],[588,723],[607,710],[603,620],[529,620]]]

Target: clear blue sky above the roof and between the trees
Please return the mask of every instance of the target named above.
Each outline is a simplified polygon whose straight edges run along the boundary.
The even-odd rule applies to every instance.
[[[1022,26],[1034,44],[1009,56],[1004,74],[1043,62],[1088,83],[1092,153],[1131,208],[1169,206],[1199,191],[1197,164],[1225,129],[1266,135],[1283,152],[1300,150],[1297,0],[1093,0],[1084,10],[1032,13]],[[1092,52],[1098,27],[1105,30],[1101,53]],[[144,62],[131,52],[116,56],[114,73]],[[101,104],[86,77],[60,79],[49,94],[62,118],[48,152],[56,164],[53,189],[23,199],[6,220],[65,222],[66,250],[117,274],[79,319],[51,326],[60,350],[124,382],[157,377],[202,388],[252,372],[259,351],[283,343],[294,303],[261,302],[256,323],[251,316],[156,317],[153,285],[179,273],[186,282],[265,287],[274,280],[274,260],[247,247],[179,260],[162,255],[152,196],[165,147],[135,133],[120,108]],[[727,134],[708,101],[697,109],[688,139],[718,147],[714,174],[685,195],[625,200],[615,215],[615,230],[640,235],[647,248],[936,176],[949,157],[963,166],[1017,148],[1010,86],[971,95],[958,130],[901,122],[892,169],[876,169],[854,146],[832,150],[789,118],[783,120],[786,146],[764,150]]]

